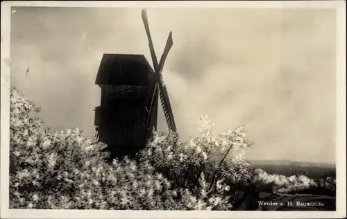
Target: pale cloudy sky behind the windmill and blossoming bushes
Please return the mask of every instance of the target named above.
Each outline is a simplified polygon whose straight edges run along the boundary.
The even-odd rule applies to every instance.
[[[103,53],[151,63],[141,8],[12,8],[11,83],[53,129],[94,134]],[[336,14],[328,9],[148,9],[180,135],[208,114],[245,125],[251,159],[335,162]],[[28,78],[26,69],[30,67]],[[159,130],[167,128],[162,112]]]

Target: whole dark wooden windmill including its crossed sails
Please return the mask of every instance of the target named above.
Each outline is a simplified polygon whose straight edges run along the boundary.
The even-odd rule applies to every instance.
[[[158,100],[162,103],[169,130],[176,132],[176,123],[162,68],[173,45],[169,33],[160,62],[155,56],[146,10],[142,19],[153,68],[144,55],[104,54],[95,84],[101,87],[101,105],[95,108],[96,137],[108,145],[112,157],[135,156],[144,148],[157,128]]]

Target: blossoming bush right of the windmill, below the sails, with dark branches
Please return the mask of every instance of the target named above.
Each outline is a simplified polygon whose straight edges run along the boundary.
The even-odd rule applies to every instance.
[[[213,134],[208,116],[201,121],[200,134],[188,142],[181,142],[174,132],[154,132],[139,160],[151,161],[173,188],[187,189],[208,203],[221,200],[223,204],[212,209],[230,210],[252,183],[253,172],[244,154],[251,141],[244,127]]]

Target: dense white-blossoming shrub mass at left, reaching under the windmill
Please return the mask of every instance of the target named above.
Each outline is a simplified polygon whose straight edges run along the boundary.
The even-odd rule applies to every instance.
[[[10,208],[230,209],[228,196],[219,195],[227,187],[217,184],[215,193],[206,198],[204,173],[196,177],[200,186],[192,193],[156,173],[157,166],[145,157],[108,164],[108,155],[100,152],[102,143],[83,138],[77,128],[43,130],[39,111],[11,90]],[[152,146],[159,141],[155,137]]]

